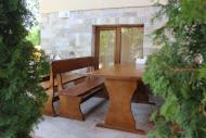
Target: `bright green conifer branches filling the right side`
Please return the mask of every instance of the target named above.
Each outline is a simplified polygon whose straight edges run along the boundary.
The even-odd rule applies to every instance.
[[[159,51],[146,63],[143,77],[164,99],[153,114],[151,138],[205,138],[206,1],[168,0],[155,18],[167,23],[154,34]]]

